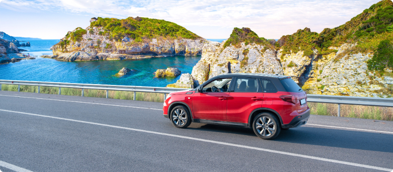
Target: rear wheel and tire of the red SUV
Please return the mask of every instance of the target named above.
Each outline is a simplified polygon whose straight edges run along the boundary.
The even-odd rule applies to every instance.
[[[281,123],[276,116],[264,112],[256,115],[254,118],[253,130],[259,138],[271,140],[280,134]]]

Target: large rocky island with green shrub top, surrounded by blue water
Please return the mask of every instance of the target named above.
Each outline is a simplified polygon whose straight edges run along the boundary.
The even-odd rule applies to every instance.
[[[205,39],[174,23],[140,17],[92,18],[86,29],[69,31],[52,58],[65,61],[196,56]]]

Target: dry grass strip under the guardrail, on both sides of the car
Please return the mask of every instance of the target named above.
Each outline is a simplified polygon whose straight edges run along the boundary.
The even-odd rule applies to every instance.
[[[18,91],[16,85],[1,85],[3,91]],[[38,86],[21,86],[21,92],[38,92]],[[58,94],[58,87],[41,86],[40,93]],[[79,88],[61,88],[61,95],[81,96],[82,89]],[[84,89],[85,97],[106,97],[105,90]],[[132,91],[109,91],[108,98],[133,100],[134,92]],[[164,94],[137,92],[136,100],[150,102],[164,102]],[[308,103],[313,115],[329,115],[337,116],[337,104],[327,103]],[[357,106],[357,105],[341,105],[340,115],[342,117],[354,117],[375,120],[393,121],[393,108],[374,107],[374,106]]]

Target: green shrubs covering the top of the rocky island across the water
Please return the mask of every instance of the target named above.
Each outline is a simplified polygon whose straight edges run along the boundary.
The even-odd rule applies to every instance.
[[[142,38],[158,36],[187,39],[200,38],[197,34],[175,23],[143,17],[128,17],[121,20],[98,17],[97,21],[90,23],[90,27],[103,27],[108,30],[109,36],[114,40],[121,40],[125,36],[139,41]]]

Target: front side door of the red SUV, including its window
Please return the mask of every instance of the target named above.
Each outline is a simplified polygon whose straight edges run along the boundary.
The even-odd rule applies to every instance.
[[[193,95],[193,117],[195,119],[208,119],[226,121],[226,102],[231,77],[218,78],[202,86],[202,92]],[[212,87],[221,88],[213,92]]]

